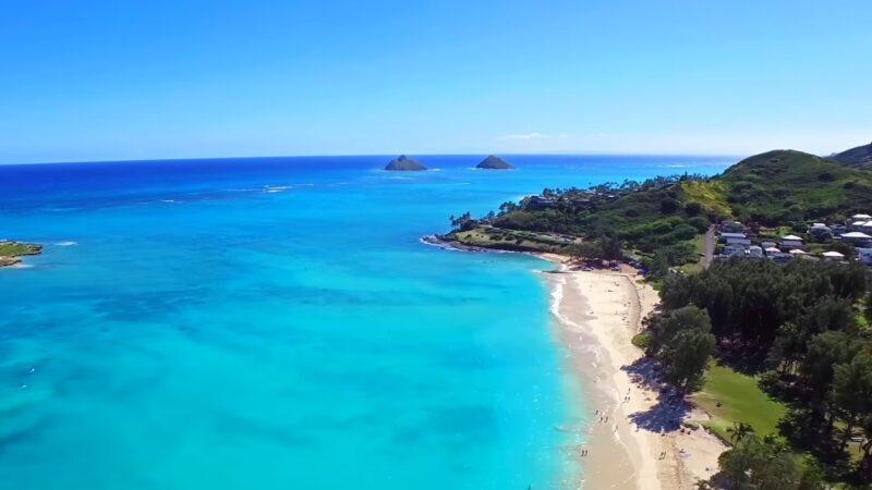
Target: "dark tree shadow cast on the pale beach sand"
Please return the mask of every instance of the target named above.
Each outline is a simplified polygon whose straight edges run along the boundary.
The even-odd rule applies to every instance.
[[[657,393],[657,403],[654,406],[645,412],[630,414],[629,419],[637,427],[652,432],[680,429],[681,420],[690,413],[692,405],[683,393],[663,381],[663,368],[654,359],[643,357],[621,369],[630,375],[635,384]]]

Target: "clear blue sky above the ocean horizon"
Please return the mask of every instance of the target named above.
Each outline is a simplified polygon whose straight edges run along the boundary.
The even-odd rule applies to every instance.
[[[869,0],[4,2],[0,163],[831,152]]]

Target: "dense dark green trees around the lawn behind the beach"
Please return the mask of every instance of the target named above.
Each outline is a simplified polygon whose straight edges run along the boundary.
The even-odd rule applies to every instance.
[[[872,482],[869,284],[862,266],[809,260],[736,259],[664,281],[663,310],[646,320],[646,352],[667,376],[680,373],[671,381],[698,387],[703,356],[714,352],[722,363],[761,373],[761,387],[789,406],[779,424],[784,439],[751,436],[737,444],[722,456],[722,478],[732,475],[736,488],[819,488],[762,483],[775,468],[803,481],[801,468],[779,466],[791,461],[779,456],[783,444],[813,455],[828,479]],[[748,475],[760,481],[746,486]]]

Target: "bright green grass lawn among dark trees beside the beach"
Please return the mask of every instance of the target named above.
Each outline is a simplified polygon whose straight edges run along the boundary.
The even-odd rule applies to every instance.
[[[712,416],[708,427],[727,441],[727,428],[737,421],[750,424],[761,438],[777,434],[778,420],[787,412],[784,404],[758,387],[755,378],[715,364],[708,367],[705,384],[692,400]]]

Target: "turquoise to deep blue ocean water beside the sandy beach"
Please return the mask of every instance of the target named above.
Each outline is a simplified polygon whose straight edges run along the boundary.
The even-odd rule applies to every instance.
[[[591,416],[514,254],[423,245],[545,186],[731,158],[0,166],[0,487],[533,489]]]

